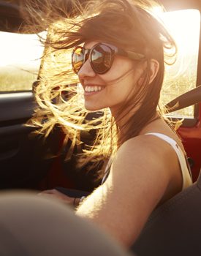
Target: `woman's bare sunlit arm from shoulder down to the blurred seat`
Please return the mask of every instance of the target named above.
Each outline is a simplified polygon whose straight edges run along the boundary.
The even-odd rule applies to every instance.
[[[119,148],[105,184],[83,201],[77,215],[130,246],[162,197],[180,187],[179,170],[175,151],[163,140],[128,140]]]

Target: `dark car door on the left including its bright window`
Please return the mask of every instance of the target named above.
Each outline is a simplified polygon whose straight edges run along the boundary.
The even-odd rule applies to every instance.
[[[15,32],[18,7],[0,4],[0,189],[37,189],[52,162],[45,159],[50,145],[31,135],[26,121],[36,108],[32,84],[43,48],[37,35]]]

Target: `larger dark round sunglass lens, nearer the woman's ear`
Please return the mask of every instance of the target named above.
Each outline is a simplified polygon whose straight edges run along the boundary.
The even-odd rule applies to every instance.
[[[107,45],[96,45],[91,53],[91,65],[98,74],[104,74],[112,64],[112,53]]]

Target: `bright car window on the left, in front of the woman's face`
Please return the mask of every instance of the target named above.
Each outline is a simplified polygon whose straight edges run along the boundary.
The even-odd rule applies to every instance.
[[[43,52],[37,34],[0,31],[0,45],[0,92],[30,91]]]

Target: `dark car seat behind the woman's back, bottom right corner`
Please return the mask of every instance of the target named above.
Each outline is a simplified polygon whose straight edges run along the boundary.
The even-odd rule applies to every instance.
[[[153,211],[132,251],[138,256],[201,255],[201,174]]]

